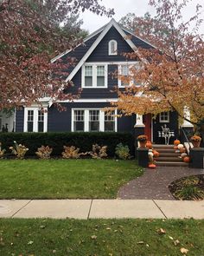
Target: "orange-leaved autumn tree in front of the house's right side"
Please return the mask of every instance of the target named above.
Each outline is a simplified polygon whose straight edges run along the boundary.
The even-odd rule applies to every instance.
[[[194,16],[183,22],[187,0],[150,0],[150,4],[156,7],[156,19],[169,28],[169,36],[155,35],[155,48],[125,55],[139,62],[139,69],[132,67],[128,77],[137,85],[118,91],[119,100],[112,106],[124,115],[174,110],[188,120],[186,108],[192,117],[188,121],[199,124],[204,119],[204,42],[198,33],[201,6],[195,6]]]

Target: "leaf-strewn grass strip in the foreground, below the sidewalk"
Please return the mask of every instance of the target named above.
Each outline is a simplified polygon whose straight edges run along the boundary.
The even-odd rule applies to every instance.
[[[0,220],[3,256],[198,256],[203,240],[204,220]]]

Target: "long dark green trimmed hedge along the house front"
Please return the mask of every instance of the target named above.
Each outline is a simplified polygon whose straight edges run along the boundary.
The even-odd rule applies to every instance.
[[[10,154],[10,146],[13,141],[29,148],[26,155],[35,155],[37,148],[41,145],[53,148],[52,155],[61,155],[63,146],[75,146],[80,152],[92,150],[93,144],[107,146],[108,156],[115,155],[115,148],[118,143],[128,145],[130,153],[134,154],[134,139],[130,133],[0,133],[2,148],[6,154]]]

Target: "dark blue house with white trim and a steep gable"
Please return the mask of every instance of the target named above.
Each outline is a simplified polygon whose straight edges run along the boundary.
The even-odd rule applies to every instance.
[[[121,89],[128,86],[112,73],[117,70],[120,75],[129,75],[129,68],[136,66],[137,61],[127,60],[123,53],[134,52],[138,47],[150,49],[153,46],[112,19],[74,50],[56,56],[53,62],[76,58],[75,66],[67,70],[66,81],[73,82],[71,92],[82,89],[80,99],[61,102],[67,108],[63,112],[59,112],[48,97],[41,100],[48,110],[45,113],[41,113],[37,105],[16,111],[16,132],[144,132],[151,141],[163,143],[158,131],[166,124],[177,136],[179,124],[174,112],[163,112],[152,120],[150,114],[118,118],[116,112],[105,115],[102,111],[110,102],[118,101],[117,94],[112,92],[115,86]]]

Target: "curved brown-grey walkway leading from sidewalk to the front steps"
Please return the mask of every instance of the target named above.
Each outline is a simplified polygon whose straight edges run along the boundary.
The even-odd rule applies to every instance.
[[[119,189],[118,199],[175,200],[169,192],[169,184],[194,174],[204,174],[204,170],[186,167],[147,168],[143,176]]]

